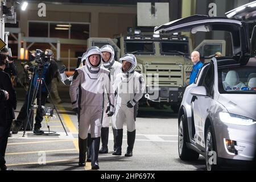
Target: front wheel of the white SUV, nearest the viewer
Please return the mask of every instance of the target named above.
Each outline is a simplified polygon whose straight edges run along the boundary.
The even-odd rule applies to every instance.
[[[216,143],[213,137],[212,126],[208,127],[205,136],[205,166],[207,171],[215,171],[218,169]]]

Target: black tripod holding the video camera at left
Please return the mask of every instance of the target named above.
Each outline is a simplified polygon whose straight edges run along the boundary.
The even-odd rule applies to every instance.
[[[47,87],[47,85],[46,85],[46,81],[44,80],[44,78],[42,78],[42,67],[41,68],[35,68],[36,70],[35,70],[35,72],[34,72],[34,75],[32,76],[32,79],[31,79],[31,85],[33,84],[33,82],[34,82],[34,79],[36,79],[36,85],[34,86],[34,90],[33,90],[33,93],[32,93],[32,99],[31,99],[31,102],[30,102],[30,104],[28,105],[29,107],[30,107],[30,109],[29,109],[29,114],[27,115],[27,123],[26,123],[26,127],[24,128],[24,132],[23,132],[23,137],[25,136],[25,133],[26,133],[26,129],[27,129],[27,125],[28,125],[28,123],[30,122],[29,120],[30,120],[30,115],[32,114],[32,111],[35,109],[35,108],[37,108],[37,109],[40,109],[40,111],[43,113],[43,108],[42,108],[42,104],[41,104],[41,100],[42,100],[42,85],[44,84],[44,86],[46,87],[46,90],[47,90],[47,92],[49,93],[49,97],[50,97],[50,100],[51,100],[51,102],[52,102],[52,104],[53,104],[53,108],[55,109],[55,111],[56,111],[56,113],[57,113],[57,115],[58,115],[58,117],[59,117],[59,119],[60,119],[60,122],[61,122],[61,125],[63,126],[63,129],[64,129],[64,131],[65,131],[65,133],[66,133],[66,135],[68,136],[68,133],[67,133],[67,131],[65,130],[65,127],[64,127],[64,125],[63,125],[63,122],[62,122],[62,120],[61,120],[61,118],[60,118],[60,114],[59,114],[59,112],[57,111],[57,109],[56,109],[56,106],[55,106],[55,104],[53,103],[53,101],[52,101],[52,96],[51,96],[51,93],[49,92],[49,89],[48,89],[48,87]],[[37,76],[37,73],[39,73],[38,75],[38,78],[35,78],[35,76]],[[31,85],[30,85],[30,90],[28,90],[28,94],[30,94],[30,92],[31,92]],[[36,106],[36,107],[34,107],[35,106],[35,99],[38,99],[37,100],[37,102],[38,102],[38,105]],[[28,101],[30,100],[30,97],[28,96]],[[50,131],[49,131],[49,125],[48,125],[48,119],[47,119],[47,127],[48,127],[48,132],[49,132],[49,135],[50,135]],[[56,133],[56,132],[55,132]],[[58,134],[57,134],[58,135]]]

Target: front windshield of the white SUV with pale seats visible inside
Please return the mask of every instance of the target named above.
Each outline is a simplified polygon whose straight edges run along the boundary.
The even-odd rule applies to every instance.
[[[256,94],[256,67],[218,69],[220,93]]]

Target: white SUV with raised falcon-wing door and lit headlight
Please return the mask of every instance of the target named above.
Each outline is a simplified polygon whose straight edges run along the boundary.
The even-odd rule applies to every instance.
[[[247,24],[193,15],[155,27],[160,32],[181,30],[228,31],[233,56],[213,57],[185,89],[178,117],[180,159],[195,160],[201,154],[207,170],[250,163],[256,146],[256,59]]]

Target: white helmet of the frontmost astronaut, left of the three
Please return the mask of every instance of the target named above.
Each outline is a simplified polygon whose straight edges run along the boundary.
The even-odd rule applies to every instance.
[[[93,65],[90,64],[89,57],[91,55],[100,55],[100,63],[97,65],[97,67],[93,67]],[[101,60],[102,60],[102,55],[101,55],[100,48],[98,48],[97,46],[92,46],[92,47],[89,47],[87,51],[82,55],[81,63],[82,65],[85,65],[85,61],[86,61],[86,65],[88,66],[89,69],[98,69],[100,68]]]

